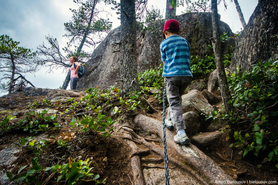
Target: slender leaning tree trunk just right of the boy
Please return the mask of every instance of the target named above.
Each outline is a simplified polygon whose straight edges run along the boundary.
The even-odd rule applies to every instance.
[[[220,33],[219,33],[219,17],[217,13],[217,0],[211,0],[211,15],[212,15],[212,29],[213,29],[213,51],[215,56],[216,68],[217,68],[217,76],[220,86],[220,92],[222,101],[224,103],[224,108],[226,114],[229,114],[233,108],[231,103],[228,103],[231,100],[231,93],[229,91],[224,62],[223,62],[223,54],[221,50],[221,42],[220,42]]]

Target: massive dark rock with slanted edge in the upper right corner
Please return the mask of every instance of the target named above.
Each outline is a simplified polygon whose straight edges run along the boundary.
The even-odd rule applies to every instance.
[[[277,60],[278,45],[278,1],[260,0],[246,28],[236,39],[236,48],[231,69],[248,71],[259,59]]]

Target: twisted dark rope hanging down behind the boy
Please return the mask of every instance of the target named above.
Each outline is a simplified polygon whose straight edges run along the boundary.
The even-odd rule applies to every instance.
[[[169,185],[170,177],[169,177],[169,167],[168,167],[168,153],[167,153],[167,146],[166,146],[166,127],[165,127],[165,114],[166,114],[166,88],[167,88],[167,78],[164,81],[164,93],[163,93],[163,152],[164,152],[164,168],[165,168],[165,185]]]

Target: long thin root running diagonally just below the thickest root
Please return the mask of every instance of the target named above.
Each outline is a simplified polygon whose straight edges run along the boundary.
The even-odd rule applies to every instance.
[[[135,132],[133,132],[132,129],[127,128],[127,127],[122,127],[123,129],[125,129],[126,131],[130,132],[132,134],[133,137],[140,139],[142,141],[142,144],[144,144],[146,147],[149,147],[151,149],[151,151],[158,153],[161,156],[164,156],[164,153],[162,150],[160,150],[155,144],[153,143],[149,143],[145,140],[145,138],[138,136]],[[186,170],[187,172],[191,173],[193,176],[195,176],[195,178],[197,180],[199,180],[202,184],[204,185],[208,185],[208,183],[202,178],[200,177],[199,174],[197,174],[195,171],[193,171],[191,168],[189,168],[188,166],[184,165],[182,162],[176,160],[175,158],[168,156],[168,160],[169,162],[175,164],[176,166],[179,166],[181,169]]]

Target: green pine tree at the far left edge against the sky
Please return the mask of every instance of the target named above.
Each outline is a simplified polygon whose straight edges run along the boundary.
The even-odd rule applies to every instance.
[[[7,35],[0,36],[0,78],[1,92],[22,90],[28,84],[34,85],[25,78],[25,73],[34,73],[42,63],[37,60],[36,53],[31,49],[19,47],[19,42],[13,41]]]

